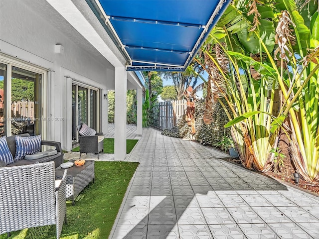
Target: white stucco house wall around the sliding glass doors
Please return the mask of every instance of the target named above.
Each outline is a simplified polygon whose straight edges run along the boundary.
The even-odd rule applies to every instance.
[[[42,5],[34,9],[30,2]],[[48,116],[65,120],[51,122],[47,139],[60,141],[63,149],[70,150],[72,83],[66,77],[106,92],[114,86],[114,67],[44,0],[1,0],[0,12],[0,51],[53,71],[48,86],[51,96],[47,102]],[[64,47],[63,54],[54,53],[55,44]],[[100,98],[103,131],[107,113],[103,94]]]

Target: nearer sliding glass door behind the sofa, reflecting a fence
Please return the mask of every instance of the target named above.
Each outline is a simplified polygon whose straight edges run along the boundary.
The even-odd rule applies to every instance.
[[[41,134],[42,79],[44,73],[0,63],[0,136]]]

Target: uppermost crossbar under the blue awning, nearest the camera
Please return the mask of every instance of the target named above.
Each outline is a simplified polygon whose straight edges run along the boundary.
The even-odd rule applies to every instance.
[[[152,19],[144,19],[144,18],[126,17],[126,16],[107,16],[107,17],[110,20],[114,20],[114,21],[130,21],[130,22],[147,23],[147,24],[205,28],[205,25],[198,25],[198,24],[185,23],[185,22],[161,21],[161,20],[152,20]]]

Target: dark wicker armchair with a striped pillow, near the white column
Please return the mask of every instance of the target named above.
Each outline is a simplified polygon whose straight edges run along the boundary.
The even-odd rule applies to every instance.
[[[99,140],[99,135],[103,136],[103,133],[96,133],[93,136],[81,136],[79,131],[82,127],[82,124],[77,125],[77,131],[79,135],[79,143],[80,143],[80,158],[81,153],[97,153],[99,159],[99,153],[103,150],[103,140]],[[103,137],[104,139],[104,137]]]

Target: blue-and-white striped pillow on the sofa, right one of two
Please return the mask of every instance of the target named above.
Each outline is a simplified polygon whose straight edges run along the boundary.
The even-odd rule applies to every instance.
[[[15,136],[15,144],[16,151],[14,161],[18,161],[24,158],[25,155],[30,155],[40,151],[41,134],[30,137]]]

